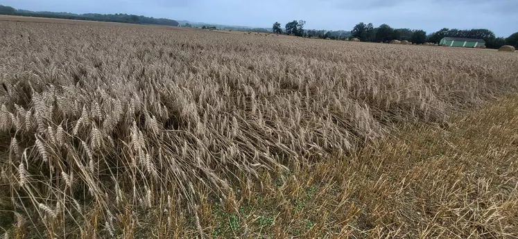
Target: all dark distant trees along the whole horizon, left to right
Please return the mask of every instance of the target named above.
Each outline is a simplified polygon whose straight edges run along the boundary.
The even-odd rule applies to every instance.
[[[26,17],[49,17],[58,19],[77,19],[88,21],[114,21],[130,24],[155,24],[166,26],[178,26],[178,21],[165,18],[153,18],[137,15],[127,14],[74,14],[70,12],[33,12],[29,10],[19,10],[10,6],[0,5],[0,15],[18,15]],[[443,37],[463,37],[483,39],[488,48],[499,48],[505,44],[515,46],[518,48],[518,33],[514,33],[507,38],[496,37],[491,30],[487,29],[471,29],[459,30],[442,28],[430,35],[426,35],[424,30],[413,30],[408,28],[392,28],[387,24],[381,24],[374,28],[372,23],[365,24],[360,22],[356,24],[351,31],[347,30],[304,30],[306,21],[290,21],[284,28],[279,22],[275,22],[272,31],[277,34],[295,35],[298,37],[314,37],[322,39],[348,39],[349,37],[356,37],[362,42],[390,42],[392,39],[407,40],[415,44],[422,44],[424,42],[439,43]],[[187,27],[193,27],[190,24],[185,24]],[[205,26],[207,29],[214,29],[216,26]],[[236,28],[234,30],[243,30]],[[246,29],[250,30],[250,29]],[[267,28],[252,28],[252,31],[268,31]]]

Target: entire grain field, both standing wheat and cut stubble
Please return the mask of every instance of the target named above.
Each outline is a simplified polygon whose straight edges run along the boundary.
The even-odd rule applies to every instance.
[[[0,21],[0,235],[518,233],[517,54],[62,21]]]

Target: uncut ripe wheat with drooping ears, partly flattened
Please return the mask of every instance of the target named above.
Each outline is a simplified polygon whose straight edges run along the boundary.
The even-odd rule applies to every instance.
[[[0,26],[7,235],[131,238],[146,221],[154,236],[207,235],[207,197],[239,213],[236,188],[354,156],[395,125],[448,127],[518,87],[517,55],[493,51]]]

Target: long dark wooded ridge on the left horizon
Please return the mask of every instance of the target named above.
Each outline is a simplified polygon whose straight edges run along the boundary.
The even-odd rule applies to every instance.
[[[128,14],[97,14],[85,13],[75,14],[71,12],[33,12],[30,10],[15,9],[9,6],[0,5],[0,15],[17,15],[26,17],[48,17],[60,19],[76,19],[87,21],[113,21],[128,24],[154,24],[165,26],[178,26],[178,21],[165,18],[153,18]]]

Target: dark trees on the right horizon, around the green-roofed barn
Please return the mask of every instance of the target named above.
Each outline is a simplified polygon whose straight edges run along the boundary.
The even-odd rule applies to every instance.
[[[442,28],[430,35],[426,35],[424,30],[409,28],[392,28],[388,24],[381,24],[374,28],[372,23],[365,24],[360,22],[349,32],[346,30],[304,30],[306,21],[290,21],[282,28],[279,22],[275,22],[272,30],[277,34],[295,35],[298,37],[313,37],[322,39],[348,39],[358,38],[362,42],[390,42],[393,39],[400,41],[407,40],[415,44],[432,42],[438,44],[443,37],[463,37],[473,39],[483,39],[488,48],[500,48],[503,45],[511,45],[518,48],[518,33],[514,33],[507,38],[496,37],[491,30],[471,29],[459,30]]]

